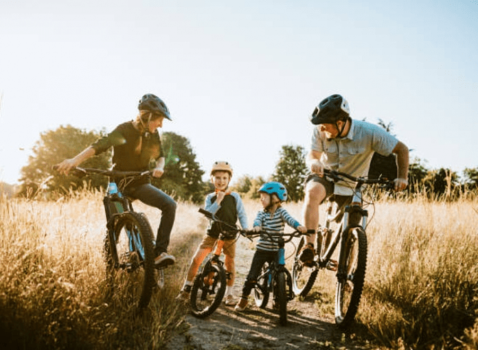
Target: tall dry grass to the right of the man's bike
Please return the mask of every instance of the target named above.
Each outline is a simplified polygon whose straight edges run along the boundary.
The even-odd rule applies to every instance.
[[[377,203],[359,320],[383,345],[477,349],[477,209],[476,200]]]

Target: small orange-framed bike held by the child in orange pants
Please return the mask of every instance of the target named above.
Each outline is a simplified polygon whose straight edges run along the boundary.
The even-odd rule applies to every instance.
[[[226,283],[231,279],[231,275],[224,268],[224,263],[220,259],[225,240],[231,238],[231,233],[240,233],[246,237],[247,230],[239,229],[238,226],[227,224],[216,218],[213,213],[204,209],[199,209],[209,220],[214,220],[222,226],[227,227],[227,231],[220,233],[214,253],[203,262],[203,268],[199,270],[191,288],[190,306],[192,315],[198,318],[205,318],[211,315],[223,301],[226,292]]]

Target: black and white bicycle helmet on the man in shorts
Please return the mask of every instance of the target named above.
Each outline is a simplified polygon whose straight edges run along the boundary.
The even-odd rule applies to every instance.
[[[350,108],[347,100],[339,94],[330,95],[315,107],[310,116],[312,124],[336,124],[339,120],[347,119]]]

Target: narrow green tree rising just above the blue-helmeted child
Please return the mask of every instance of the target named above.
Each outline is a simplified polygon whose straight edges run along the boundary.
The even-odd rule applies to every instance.
[[[306,173],[306,152],[304,147],[300,145],[283,145],[272,179],[286,186],[288,196],[294,202],[304,198]]]

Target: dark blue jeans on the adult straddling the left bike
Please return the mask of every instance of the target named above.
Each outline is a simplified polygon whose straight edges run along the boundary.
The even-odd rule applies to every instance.
[[[139,199],[146,205],[155,207],[161,211],[161,222],[159,223],[156,236],[157,255],[167,252],[170,241],[172,225],[176,217],[177,204],[161,189],[146,183],[135,187],[126,187],[125,194],[131,198]]]

